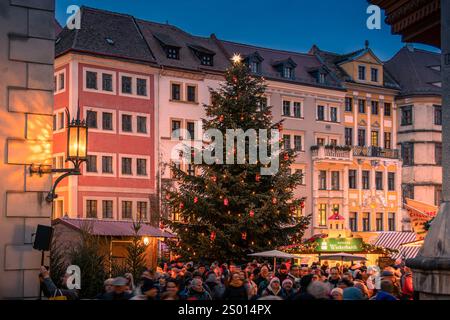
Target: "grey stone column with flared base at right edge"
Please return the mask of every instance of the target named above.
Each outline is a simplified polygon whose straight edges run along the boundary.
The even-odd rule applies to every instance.
[[[425,243],[407,265],[420,299],[450,299],[450,1],[441,0],[443,203]]]

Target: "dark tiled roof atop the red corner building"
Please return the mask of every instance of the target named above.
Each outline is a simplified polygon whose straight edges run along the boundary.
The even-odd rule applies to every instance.
[[[58,38],[55,46],[56,57],[68,51],[78,51],[156,63],[135,19],[130,15],[83,6],[81,28],[70,30],[66,26]],[[106,39],[111,39],[113,44],[108,43]]]

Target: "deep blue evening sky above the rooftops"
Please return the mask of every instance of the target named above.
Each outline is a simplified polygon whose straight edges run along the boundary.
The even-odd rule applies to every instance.
[[[71,4],[168,21],[194,35],[215,33],[220,39],[282,50],[306,52],[317,44],[346,53],[364,47],[367,39],[375,54],[388,60],[404,46],[384,21],[381,30],[366,27],[366,0],[56,0],[61,24]]]

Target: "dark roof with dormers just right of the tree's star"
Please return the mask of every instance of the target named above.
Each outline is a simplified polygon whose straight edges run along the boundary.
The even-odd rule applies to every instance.
[[[221,43],[228,57],[231,57],[235,53],[239,53],[241,54],[241,56],[247,57],[257,52],[258,55],[263,59],[261,61],[260,74],[268,80],[343,90],[341,82],[331,73],[327,78],[326,84],[317,82],[317,79],[311,74],[310,71],[312,70],[312,68],[320,68],[321,66],[323,66],[323,64],[313,54],[263,48],[225,40],[219,40],[219,42]],[[275,68],[276,65],[280,62],[286,61],[291,61],[296,65],[294,79],[283,78],[280,72]]]

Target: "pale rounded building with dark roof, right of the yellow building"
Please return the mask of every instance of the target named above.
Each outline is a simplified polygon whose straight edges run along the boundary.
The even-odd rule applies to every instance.
[[[408,45],[386,68],[401,85],[398,148],[404,198],[439,206],[442,201],[441,56]]]

